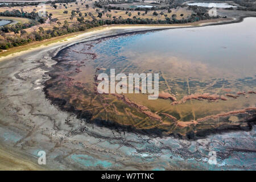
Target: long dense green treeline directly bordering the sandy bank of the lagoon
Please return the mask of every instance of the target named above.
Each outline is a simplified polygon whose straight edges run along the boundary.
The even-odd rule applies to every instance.
[[[154,19],[141,19],[141,18],[127,18],[123,19],[121,16],[119,18],[114,18],[112,20],[104,20],[104,19],[96,19],[94,18],[92,21],[84,20],[83,17],[79,18],[80,23],[74,23],[72,26],[69,26],[67,20],[63,23],[62,26],[53,27],[52,30],[43,30],[42,27],[39,27],[39,31],[34,31],[31,33],[24,33],[21,35],[15,36],[7,36],[5,40],[0,42],[0,51],[1,49],[8,49],[11,47],[22,46],[24,44],[33,42],[33,41],[41,41],[44,39],[50,39],[57,36],[70,34],[72,32],[85,31],[93,27],[99,27],[106,24],[176,24],[176,23],[191,23],[204,19],[213,19],[220,18],[219,16],[210,17],[208,14],[192,14],[187,19],[176,19],[175,16],[171,18],[166,17],[164,20],[154,20]],[[22,25],[19,25],[22,26]]]

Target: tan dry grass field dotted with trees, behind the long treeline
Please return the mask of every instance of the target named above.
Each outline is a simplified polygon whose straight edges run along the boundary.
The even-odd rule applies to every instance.
[[[83,2],[84,3],[84,2]],[[72,10],[76,10],[77,8],[79,8],[79,10],[82,13],[82,17],[84,17],[85,20],[92,20],[92,18],[87,15],[85,16],[85,13],[92,13],[96,18],[98,16],[98,13],[96,12],[96,9],[100,10],[100,11],[104,11],[104,9],[100,9],[97,7],[93,7],[93,3],[92,2],[86,2],[84,3],[84,5],[81,5],[81,2],[78,2],[78,4],[76,5],[75,2],[73,3],[68,3],[67,7],[68,9],[65,9],[65,7],[63,6],[64,3],[56,3],[57,5],[57,9],[55,9],[54,7],[51,7],[50,5],[46,5],[46,11],[48,12],[48,14],[52,14],[52,18],[57,18],[59,19],[58,21],[60,23],[63,23],[65,20],[68,20],[69,24],[72,23],[76,23],[77,22],[77,18],[79,18],[80,16],[77,14],[76,16],[74,16],[74,18],[71,20],[71,11]],[[87,9],[85,7],[85,5],[89,5],[89,8]],[[24,6],[24,7],[1,7],[0,12],[6,11],[6,10],[20,10],[23,9],[23,11],[27,11],[27,12],[31,12],[34,9],[36,9],[36,11],[39,11],[41,9],[41,7],[36,7],[36,6]],[[67,10],[68,14],[64,14],[63,11]],[[177,15],[177,19],[182,19],[182,18],[187,18],[187,16],[192,14],[191,10],[187,10],[186,8],[177,8],[177,9],[172,9],[171,13],[168,13],[167,10],[159,10],[156,11],[159,15],[158,16],[154,16],[152,15],[154,11],[148,11],[147,14],[145,14],[144,16],[142,15],[144,13],[144,11],[129,11],[131,13],[131,16],[127,15],[126,10],[112,10],[111,13],[105,13],[101,19],[113,19],[113,17],[115,16],[115,18],[118,18],[119,16],[122,16],[123,19],[127,19],[127,18],[133,18],[134,16],[136,16],[136,18],[148,18],[148,19],[162,19],[164,20],[166,17],[164,15],[160,15],[161,12],[163,12],[164,14],[167,15],[167,17],[171,17],[173,14]],[[141,15],[138,15],[138,12],[141,13]],[[106,16],[106,14],[111,14],[111,18],[108,18]],[[183,14],[183,16],[180,16],[180,14]],[[9,17],[10,18],[10,17]],[[5,18],[7,19],[7,18]],[[11,17],[11,19],[16,19],[19,20],[20,22],[26,22],[27,19],[23,19],[23,18],[13,18]],[[100,18],[97,18],[100,19]],[[57,23],[50,23],[49,21],[47,21],[44,24],[40,24],[39,26],[34,26],[31,28],[27,28],[26,31],[27,32],[32,32],[32,31],[37,31],[39,27],[43,27],[45,30],[47,30],[48,28],[52,28],[53,26],[58,26]]]

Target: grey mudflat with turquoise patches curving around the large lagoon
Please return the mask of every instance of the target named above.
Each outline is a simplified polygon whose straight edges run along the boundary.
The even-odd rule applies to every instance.
[[[106,28],[104,30],[106,30]],[[109,32],[112,32],[113,34],[117,33],[114,31],[104,32],[108,33],[108,35]],[[104,32],[98,32],[98,34],[100,34],[99,36],[106,36]],[[119,30],[118,32],[124,33],[125,31]],[[85,32],[82,34],[85,34]],[[44,77],[42,79],[44,71],[48,71],[49,67],[51,67],[52,63],[54,62],[53,60],[51,60],[50,57],[55,56],[56,53],[60,51],[60,49],[71,46],[72,44],[79,43],[79,41],[84,42],[83,40],[87,40],[89,38],[95,39],[96,35],[90,33],[88,34],[88,32],[86,32],[86,36],[87,38],[82,38],[80,36],[80,40],[77,38],[71,38],[69,42],[56,43],[57,46],[56,44],[51,44],[48,45],[46,49],[44,49],[44,47],[32,49],[26,52],[27,55],[22,52],[23,56],[13,56],[17,58],[13,60],[8,59],[10,60],[10,62],[6,61],[7,59],[4,59],[2,63],[0,62],[0,66],[2,66],[1,69],[6,70],[6,73],[3,75],[7,75],[6,78],[8,78],[9,81],[15,81],[15,84],[10,84],[10,82],[3,82],[2,85],[3,89],[6,86],[9,86],[9,88],[1,92],[1,94],[4,93],[3,96],[0,95],[1,103],[3,104],[2,107],[6,107],[6,109],[1,110],[2,113],[6,113],[3,114],[3,117],[1,119],[2,121],[0,121],[0,124],[4,122],[3,124],[6,123],[6,125],[0,125],[0,129],[10,128],[11,130],[16,131],[16,133],[22,135],[22,138],[17,143],[14,143],[15,149],[17,151],[28,151],[28,153],[32,154],[33,156],[34,150],[38,150],[38,148],[42,148],[47,152],[49,151],[49,157],[52,157],[51,160],[47,160],[49,161],[49,166],[52,168],[54,167],[53,164],[56,164],[57,169],[106,169],[106,167],[104,168],[102,166],[81,167],[78,160],[72,160],[72,156],[77,156],[77,154],[79,154],[79,156],[81,154],[82,156],[82,154],[84,154],[86,156],[93,156],[93,160],[100,159],[100,161],[103,160],[110,161],[111,163],[113,162],[113,166],[109,167],[108,169],[151,170],[155,169],[155,167],[160,166],[167,170],[191,170],[207,169],[205,167],[207,166],[207,162],[199,162],[199,160],[205,159],[205,157],[208,156],[208,152],[214,147],[218,148],[222,147],[222,145],[224,147],[224,149],[218,153],[218,159],[221,159],[221,162],[229,156],[232,156],[232,151],[229,151],[226,146],[224,146],[224,144],[220,142],[226,138],[229,139],[230,143],[234,142],[234,144],[236,144],[237,142],[239,144],[248,142],[247,138],[246,140],[244,140],[243,138],[238,139],[237,136],[241,136],[241,134],[242,136],[245,135],[245,137],[247,137],[247,133],[240,131],[232,133],[232,135],[222,135],[221,137],[223,137],[223,139],[218,139],[218,137],[214,137],[215,135],[212,135],[212,137],[208,136],[203,140],[204,142],[201,143],[200,140],[196,140],[195,142],[189,140],[184,141],[180,139],[175,139],[173,137],[150,138],[143,135],[136,135],[133,133],[126,133],[122,135],[117,131],[109,130],[106,127],[101,128],[97,127],[96,125],[88,124],[84,126],[84,123],[80,123],[78,119],[76,119],[69,113],[60,111],[59,109],[57,109],[57,107],[50,105],[48,103],[48,100],[46,100],[45,95],[42,94],[42,90],[36,89],[41,86],[38,84],[45,80]],[[41,51],[36,52],[37,50]],[[32,65],[32,67],[27,67],[28,65]],[[12,68],[14,66],[15,68]],[[43,68],[43,71],[41,71],[39,68]],[[33,74],[32,77],[27,77],[26,75],[24,75],[27,73],[27,70],[30,75]],[[21,73],[22,75],[19,75],[18,73]],[[41,80],[39,82],[36,82],[37,79]],[[22,85],[23,87],[19,88],[20,85]],[[5,92],[7,90],[9,90],[10,92]],[[10,99],[8,98],[9,100],[7,100],[7,98],[5,98],[5,95],[10,96]],[[15,101],[15,103],[12,101]],[[8,104],[10,103],[10,106],[7,106],[7,104],[5,104],[4,102],[8,102]],[[16,111],[15,109],[18,109],[19,107],[21,111]],[[11,115],[10,117],[6,117],[6,115],[9,114],[8,111],[10,109],[12,111],[10,112]],[[22,113],[26,115],[23,115]],[[31,121],[29,119],[31,119]],[[67,124],[65,123],[66,119]],[[48,141],[45,137],[49,137],[51,138],[51,140]],[[35,142],[31,142],[32,139],[38,140],[35,140]],[[239,147],[246,148],[248,146],[249,148],[253,145],[253,141],[254,140],[251,139],[250,142],[248,142],[245,146],[240,144]],[[7,142],[5,143],[8,145],[12,144],[9,142],[9,140],[7,140]],[[30,143],[31,145],[29,145]],[[190,145],[192,148],[195,147],[196,150],[188,148]],[[204,150],[200,150],[200,148],[197,147],[203,147]],[[60,152],[58,148],[61,148],[61,151],[63,151],[63,153]],[[232,150],[236,149],[237,146],[235,145],[234,149]],[[50,153],[50,151],[52,153]],[[55,156],[56,154],[57,157]],[[150,162],[147,162],[147,160],[144,159],[144,154],[148,155],[148,159],[150,159]],[[20,155],[20,157],[22,156]],[[113,159],[115,160],[112,161]],[[141,162],[142,159],[143,161]],[[191,160],[185,160],[185,162],[183,162],[184,159]],[[195,159],[198,159],[196,163],[190,162],[192,160],[195,161]],[[253,159],[253,157],[250,157],[249,159]],[[176,161],[179,162],[179,166],[175,166]],[[159,164],[158,162],[161,162],[162,164]],[[119,166],[114,166],[115,163],[118,163]],[[180,166],[180,163],[184,163],[184,166]],[[196,166],[197,163],[199,163],[201,166]],[[228,163],[228,166],[223,166],[223,168],[239,168],[243,170],[247,168],[254,169],[254,167],[250,166],[249,164],[246,164],[246,167],[241,167],[240,164],[234,166],[234,164],[230,163]],[[221,164],[218,164],[218,166],[216,167],[214,166],[213,169],[220,169],[220,165]]]

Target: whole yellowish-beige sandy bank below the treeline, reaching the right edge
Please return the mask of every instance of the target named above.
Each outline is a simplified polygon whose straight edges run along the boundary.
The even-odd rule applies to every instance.
[[[91,29],[83,31],[83,32],[75,32],[74,34],[67,34],[67,35],[64,35],[61,37],[56,37],[57,40],[55,38],[52,38],[52,39],[42,41],[42,42],[32,42],[32,43],[24,45],[24,46],[14,47],[18,50],[14,51],[13,53],[10,52],[13,50],[13,48],[8,49],[3,52],[3,53],[5,53],[7,51],[10,52],[10,54],[8,54],[6,56],[5,55],[2,56],[2,54],[0,52],[0,62],[12,59],[17,56],[24,55],[26,53],[29,53],[29,52],[32,52],[35,50],[39,51],[40,49],[44,49],[47,47],[51,47],[51,46],[55,46],[55,45],[58,46],[58,44],[60,44],[59,42],[63,41],[63,39],[65,40],[66,43],[72,43],[72,42],[76,42],[79,39],[84,39],[87,36],[89,36],[90,34],[97,36],[97,34],[100,32],[104,32],[104,31],[108,31],[108,30],[112,30],[112,29],[133,28],[134,29],[133,32],[136,32],[136,31],[165,30],[165,29],[176,29],[176,28],[195,28],[195,27],[216,26],[216,25],[230,24],[230,23],[240,23],[243,21],[243,19],[250,18],[250,17],[256,17],[256,14],[255,15],[253,15],[253,14],[239,15],[237,18],[227,17],[228,20],[224,20],[225,18],[210,19],[210,20],[218,20],[218,22],[206,22],[206,23],[204,23],[203,21],[208,21],[208,20],[200,20],[199,22],[186,23],[186,24],[170,24],[170,25],[166,25],[166,24],[112,24],[110,26],[108,25],[108,26],[91,28]],[[129,31],[127,31],[127,32],[129,32]],[[118,35],[118,34],[116,34],[116,35]],[[69,38],[70,36],[71,36],[71,38]],[[73,38],[73,36],[77,36],[77,37]],[[53,41],[55,40],[56,42],[47,44],[48,42],[51,42],[52,40]],[[31,48],[31,47],[33,47],[34,44],[35,44],[35,46],[38,45],[39,47]],[[43,46],[40,44],[43,44]],[[45,46],[44,44],[47,44],[47,46]],[[20,51],[19,49],[22,49],[22,48],[25,48],[26,50]],[[9,52],[7,52],[7,53],[9,53]]]

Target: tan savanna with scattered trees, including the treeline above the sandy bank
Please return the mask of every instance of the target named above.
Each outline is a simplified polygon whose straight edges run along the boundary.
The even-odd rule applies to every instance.
[[[0,16],[28,18],[31,21],[1,27],[0,51],[110,24],[181,24],[220,18],[209,16],[205,7],[181,6],[172,0],[159,5],[140,2],[146,5],[149,3],[154,8],[139,9],[134,6],[139,1],[129,1],[133,8],[129,6],[128,9],[120,10],[109,6],[101,7],[107,1],[71,1],[73,0],[59,0],[59,3],[51,2],[44,7],[1,7]],[[106,4],[111,5],[110,3],[127,5],[127,1],[109,1]],[[43,16],[40,15],[42,13]]]

